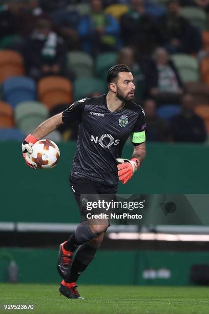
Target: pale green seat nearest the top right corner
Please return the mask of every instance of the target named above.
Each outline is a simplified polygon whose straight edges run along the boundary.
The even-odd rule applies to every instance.
[[[199,27],[200,30],[204,31],[206,29],[207,15],[203,9],[196,7],[183,7],[181,8],[181,15],[189,19],[190,23]]]

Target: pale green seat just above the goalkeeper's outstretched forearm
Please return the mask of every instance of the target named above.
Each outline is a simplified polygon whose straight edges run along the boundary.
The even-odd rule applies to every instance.
[[[32,132],[48,116],[48,108],[38,102],[22,102],[14,108],[16,126],[25,134]]]

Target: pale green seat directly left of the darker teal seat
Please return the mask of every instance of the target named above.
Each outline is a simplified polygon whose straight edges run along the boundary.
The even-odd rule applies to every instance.
[[[81,51],[68,53],[68,68],[76,77],[93,76],[94,61],[91,55]]]

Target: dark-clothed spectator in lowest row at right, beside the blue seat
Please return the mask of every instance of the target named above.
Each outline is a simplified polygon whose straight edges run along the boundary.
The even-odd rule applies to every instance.
[[[190,94],[182,97],[182,112],[172,118],[175,142],[204,142],[206,130],[202,118],[194,112],[194,99]]]

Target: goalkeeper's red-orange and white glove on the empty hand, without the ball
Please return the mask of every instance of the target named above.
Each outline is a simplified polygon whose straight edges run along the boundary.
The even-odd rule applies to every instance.
[[[131,179],[134,172],[139,169],[140,162],[137,158],[132,158],[131,160],[117,158],[117,162],[119,163],[117,165],[118,178],[125,184]]]

